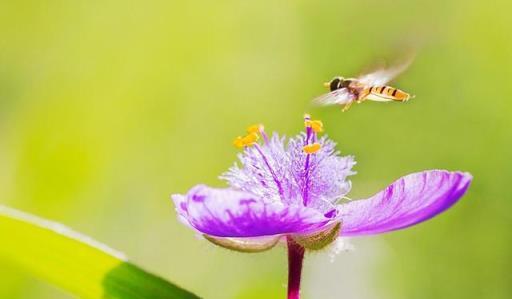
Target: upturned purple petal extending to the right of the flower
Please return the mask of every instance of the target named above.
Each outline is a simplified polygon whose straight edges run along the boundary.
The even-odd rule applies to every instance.
[[[369,235],[406,228],[451,207],[466,192],[471,175],[429,170],[402,177],[383,191],[340,206],[342,235]]]

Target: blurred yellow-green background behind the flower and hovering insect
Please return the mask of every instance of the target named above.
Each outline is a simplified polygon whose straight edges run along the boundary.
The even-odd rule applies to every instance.
[[[352,197],[460,169],[432,221],[307,257],[304,298],[511,298],[512,4],[498,1],[0,2],[0,203],[63,222],[205,298],[284,298],[283,248],[227,252],[169,201],[234,161],[262,122],[302,114],[354,154]],[[313,108],[322,82],[420,48],[416,98]],[[0,239],[1,242],[8,240]],[[0,298],[72,298],[0,261]]]

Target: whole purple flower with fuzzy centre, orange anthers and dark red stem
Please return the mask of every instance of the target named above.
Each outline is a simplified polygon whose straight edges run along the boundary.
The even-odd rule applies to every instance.
[[[234,142],[243,148],[240,164],[221,176],[229,188],[198,185],[172,196],[181,221],[217,245],[256,252],[286,240],[289,298],[298,298],[305,249],[321,249],[340,235],[384,233],[430,219],[456,203],[471,182],[468,173],[428,170],[370,198],[347,200],[354,158],[318,137],[320,121],[306,115],[304,124],[305,132],[288,140],[267,136],[261,125],[249,127]]]

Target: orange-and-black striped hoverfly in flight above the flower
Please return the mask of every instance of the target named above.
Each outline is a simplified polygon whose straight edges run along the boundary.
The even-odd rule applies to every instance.
[[[330,89],[329,93],[313,100],[317,105],[344,105],[342,111],[347,111],[352,103],[361,103],[365,100],[377,102],[407,102],[413,98],[403,90],[387,86],[386,84],[403,72],[411,63],[407,62],[374,71],[358,78],[334,77],[330,82],[324,83]]]

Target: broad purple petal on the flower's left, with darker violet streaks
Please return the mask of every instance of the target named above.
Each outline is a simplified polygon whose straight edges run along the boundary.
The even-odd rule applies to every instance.
[[[185,196],[172,198],[185,224],[216,237],[312,232],[334,221],[304,206],[268,202],[248,192],[204,185],[192,188]]]

